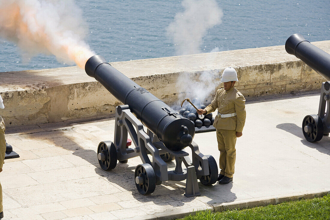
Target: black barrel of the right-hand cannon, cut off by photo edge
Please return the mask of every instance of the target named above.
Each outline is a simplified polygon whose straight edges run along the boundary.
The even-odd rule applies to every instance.
[[[301,34],[291,35],[285,42],[285,50],[330,81],[330,55],[305,40]]]

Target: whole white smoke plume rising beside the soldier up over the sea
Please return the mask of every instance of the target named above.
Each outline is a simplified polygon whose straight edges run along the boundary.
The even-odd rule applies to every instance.
[[[182,6],[184,12],[175,16],[174,21],[167,28],[167,33],[173,39],[177,55],[202,53],[203,37],[208,29],[221,23],[222,10],[215,0],[183,0]],[[210,53],[218,51],[216,47]],[[184,62],[189,65],[189,58],[184,59]],[[178,104],[181,105],[181,101],[185,98],[190,98],[197,107],[206,99],[210,103],[213,99],[211,92],[218,87],[215,82],[219,82],[220,77],[219,70],[203,71],[200,75],[181,74],[177,81]],[[194,111],[188,102],[183,107]],[[175,108],[178,109],[180,106],[177,105]]]

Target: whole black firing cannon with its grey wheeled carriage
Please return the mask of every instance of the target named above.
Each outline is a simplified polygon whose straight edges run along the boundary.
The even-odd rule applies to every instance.
[[[195,128],[190,120],[120,73],[100,55],[87,60],[85,71],[123,103],[116,107],[114,142],[102,141],[98,145],[97,157],[103,170],[114,169],[117,160],[125,163],[140,156],[143,164],[135,169],[135,185],[143,195],[152,193],[163,181],[186,179],[185,196],[198,196],[197,179],[204,185],[216,182],[215,159],[199,152],[198,145],[192,141]],[[134,149],[127,146],[128,134]],[[192,160],[184,150],[188,146]],[[174,159],[175,170],[168,171],[166,162]],[[186,169],[182,169],[182,162]]]

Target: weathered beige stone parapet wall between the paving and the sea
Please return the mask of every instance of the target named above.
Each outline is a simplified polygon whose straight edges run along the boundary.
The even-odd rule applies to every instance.
[[[313,44],[330,53],[330,41]],[[228,66],[237,70],[236,88],[246,97],[316,90],[324,81],[305,63],[288,55],[284,46],[111,64],[169,105],[180,101],[178,97],[184,92],[177,83],[182,74],[198,80],[203,71],[220,75]],[[0,74],[0,94],[6,107],[0,115],[8,127],[104,117],[114,114],[120,104],[78,67]],[[220,78],[212,83],[214,90],[206,100],[220,87]]]

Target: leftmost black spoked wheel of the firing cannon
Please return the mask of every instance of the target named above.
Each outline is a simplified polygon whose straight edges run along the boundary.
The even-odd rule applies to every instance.
[[[97,155],[104,154],[104,160],[99,160],[100,167],[103,170],[114,169],[117,165],[117,151],[111,141],[102,141],[97,148]]]

